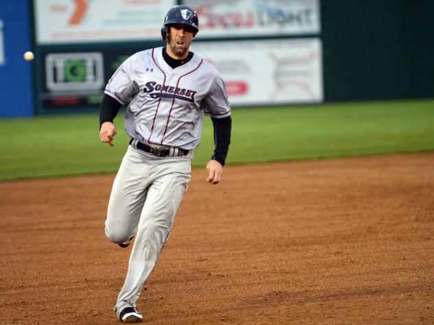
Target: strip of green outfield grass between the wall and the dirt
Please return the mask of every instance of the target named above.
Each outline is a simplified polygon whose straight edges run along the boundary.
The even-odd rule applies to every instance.
[[[434,150],[434,101],[234,108],[228,165]],[[98,115],[0,120],[0,180],[115,172],[126,150],[123,114],[115,147],[102,144]],[[194,166],[212,154],[205,118]]]

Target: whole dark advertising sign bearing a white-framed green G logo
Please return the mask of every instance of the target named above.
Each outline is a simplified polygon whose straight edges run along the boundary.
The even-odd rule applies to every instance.
[[[141,50],[137,45],[101,51],[95,45],[89,51],[41,51],[40,109],[99,107],[109,77],[126,58]]]

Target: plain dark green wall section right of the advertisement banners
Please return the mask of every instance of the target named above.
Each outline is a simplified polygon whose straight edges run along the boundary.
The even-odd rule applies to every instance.
[[[321,1],[325,101],[434,97],[434,1]]]

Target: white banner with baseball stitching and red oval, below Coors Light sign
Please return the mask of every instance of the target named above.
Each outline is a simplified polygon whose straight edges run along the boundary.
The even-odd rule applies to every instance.
[[[323,101],[321,40],[193,42],[216,67],[233,106]]]

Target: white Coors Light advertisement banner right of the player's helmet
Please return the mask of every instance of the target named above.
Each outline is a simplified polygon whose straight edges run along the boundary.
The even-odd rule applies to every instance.
[[[321,32],[319,0],[186,0],[184,3],[198,14],[198,38]]]

